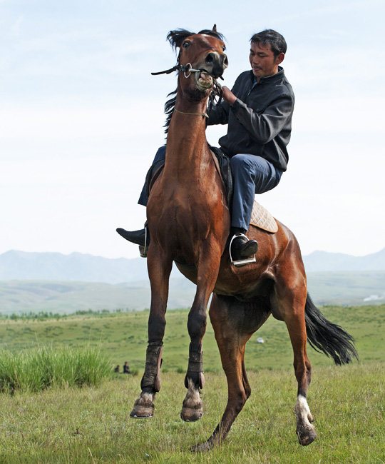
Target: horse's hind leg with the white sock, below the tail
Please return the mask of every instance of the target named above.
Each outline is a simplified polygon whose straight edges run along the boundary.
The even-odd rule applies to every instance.
[[[302,275],[291,273],[289,282],[278,283],[275,287],[278,318],[282,318],[289,331],[294,352],[294,373],[298,382],[295,415],[297,417],[297,437],[301,445],[309,445],[317,438],[313,417],[307,404],[307,388],[311,380],[312,365],[307,357],[306,325],[304,307],[307,297],[306,281]],[[280,317],[279,317],[280,316]]]

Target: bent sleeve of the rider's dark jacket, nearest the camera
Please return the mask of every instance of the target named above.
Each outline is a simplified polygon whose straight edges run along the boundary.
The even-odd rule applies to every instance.
[[[232,104],[232,111],[238,121],[259,143],[270,142],[282,131],[284,124],[292,115],[294,99],[289,94],[279,96],[262,111],[255,111],[237,99]]]

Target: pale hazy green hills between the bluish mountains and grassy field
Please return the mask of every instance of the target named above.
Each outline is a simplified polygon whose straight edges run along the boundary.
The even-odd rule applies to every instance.
[[[317,305],[385,303],[385,271],[308,273],[308,289]],[[168,308],[188,308],[195,285],[171,278]],[[74,311],[142,310],[150,307],[148,280],[131,283],[71,281],[0,281],[0,313],[71,313]]]

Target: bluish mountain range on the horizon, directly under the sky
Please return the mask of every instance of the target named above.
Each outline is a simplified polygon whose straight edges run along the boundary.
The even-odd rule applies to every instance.
[[[366,256],[314,251],[304,256],[307,272],[384,271],[385,248]],[[173,271],[172,278],[180,277]],[[80,281],[131,283],[148,279],[143,258],[102,258],[82,253],[29,253],[7,251],[0,255],[0,281]]]

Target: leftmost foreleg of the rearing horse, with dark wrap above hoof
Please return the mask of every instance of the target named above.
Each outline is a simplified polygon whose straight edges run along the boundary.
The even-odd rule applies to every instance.
[[[131,418],[153,417],[155,393],[160,390],[160,365],[162,362],[165,311],[168,299],[168,280],[173,261],[160,249],[151,246],[148,251],[148,276],[151,284],[151,306],[148,318],[148,347],[145,372],[140,382],[142,393],[135,401]]]

